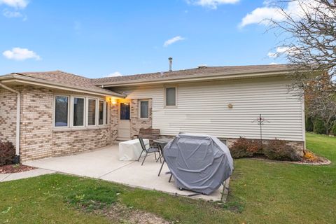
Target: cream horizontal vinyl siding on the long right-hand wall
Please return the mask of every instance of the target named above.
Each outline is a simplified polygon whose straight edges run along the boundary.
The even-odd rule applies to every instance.
[[[176,108],[165,108],[164,85],[118,91],[128,99],[152,98],[153,128],[164,135],[193,132],[258,139],[260,129],[252,121],[261,113],[269,121],[262,127],[265,139],[304,141],[303,103],[288,93],[289,84],[286,78],[179,84]]]

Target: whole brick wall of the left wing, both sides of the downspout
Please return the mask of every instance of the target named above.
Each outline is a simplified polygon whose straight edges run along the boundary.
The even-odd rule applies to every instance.
[[[41,87],[15,87],[21,92],[22,162],[90,151],[111,144],[118,132],[118,106],[109,104],[110,124],[83,130],[53,130],[55,90]],[[57,92],[58,94],[59,92]],[[70,94],[73,92],[63,92]],[[0,140],[15,144],[16,94],[0,89]]]

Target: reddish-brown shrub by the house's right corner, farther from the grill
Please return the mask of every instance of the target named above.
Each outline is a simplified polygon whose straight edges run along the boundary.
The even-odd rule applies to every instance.
[[[263,148],[264,155],[270,160],[290,160],[298,161],[300,156],[295,153],[292,146],[289,146],[286,141],[275,139]]]

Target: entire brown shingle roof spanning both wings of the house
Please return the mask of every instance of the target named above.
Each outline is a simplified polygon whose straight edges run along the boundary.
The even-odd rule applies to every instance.
[[[179,78],[197,78],[208,76],[230,76],[236,74],[251,73],[272,73],[286,72],[293,69],[293,66],[287,64],[276,65],[248,65],[248,66],[201,66],[195,69],[186,69],[179,71],[165,71],[156,73],[144,73],[131,76],[118,76],[106,78],[85,78],[64,71],[44,71],[44,72],[20,72],[12,73],[20,76],[50,81],[57,85],[68,85],[73,88],[85,89],[104,94],[114,94],[121,96],[111,90],[106,90],[101,85],[129,85],[130,83],[145,83],[146,81],[175,80]]]

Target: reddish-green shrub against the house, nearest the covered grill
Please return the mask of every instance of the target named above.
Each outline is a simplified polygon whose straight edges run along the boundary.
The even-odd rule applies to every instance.
[[[236,140],[230,148],[232,158],[253,157],[253,155],[260,152],[261,147],[259,141],[241,137]]]

